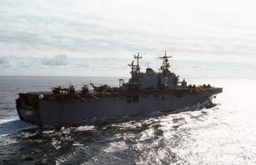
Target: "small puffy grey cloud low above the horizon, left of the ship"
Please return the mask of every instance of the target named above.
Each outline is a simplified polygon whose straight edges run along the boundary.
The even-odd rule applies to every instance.
[[[59,54],[51,58],[45,57],[42,64],[47,66],[66,66],[68,64],[67,56],[65,54]]]

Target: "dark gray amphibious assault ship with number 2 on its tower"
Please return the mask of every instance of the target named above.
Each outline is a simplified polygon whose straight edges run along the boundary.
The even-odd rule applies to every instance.
[[[73,85],[68,88],[55,87],[48,92],[19,93],[16,101],[17,112],[22,121],[39,126],[68,125],[87,119],[102,119],[141,115],[145,113],[172,112],[198,103],[211,103],[221,87],[211,85],[187,85],[179,76],[169,70],[170,63],[166,52],[160,56],[162,66],[158,72],[146,68],[140,72],[140,54],[134,55],[131,78],[126,83],[119,80],[119,87],[108,85],[88,89],[83,85],[76,91]]]

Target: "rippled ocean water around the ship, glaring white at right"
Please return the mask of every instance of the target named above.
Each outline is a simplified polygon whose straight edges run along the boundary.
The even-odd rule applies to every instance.
[[[0,76],[0,164],[256,164],[256,80],[188,80],[223,87],[211,108],[47,129],[19,121],[17,93],[89,82],[118,78]]]

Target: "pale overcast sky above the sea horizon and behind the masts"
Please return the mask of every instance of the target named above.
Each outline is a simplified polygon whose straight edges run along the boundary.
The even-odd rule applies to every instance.
[[[0,2],[0,75],[129,77],[134,54],[182,78],[256,78],[254,0]]]

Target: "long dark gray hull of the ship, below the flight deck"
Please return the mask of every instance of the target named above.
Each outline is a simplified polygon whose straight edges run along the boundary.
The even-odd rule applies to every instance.
[[[53,93],[20,93],[17,111],[23,121],[39,126],[67,125],[86,119],[126,117],[172,112],[186,106],[211,100],[222,88],[208,90],[148,90],[132,93],[98,95]],[[44,95],[39,99],[39,95]]]

